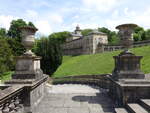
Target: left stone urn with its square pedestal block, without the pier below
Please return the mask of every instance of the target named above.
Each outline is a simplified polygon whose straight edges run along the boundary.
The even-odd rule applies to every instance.
[[[34,35],[37,31],[33,27],[21,27],[22,44],[26,48],[26,52],[16,57],[16,69],[12,79],[31,79],[35,80],[43,75],[40,69],[41,57],[36,56],[32,51],[35,42]]]

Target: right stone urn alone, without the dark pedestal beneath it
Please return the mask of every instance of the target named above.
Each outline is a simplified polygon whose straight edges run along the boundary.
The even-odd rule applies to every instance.
[[[122,24],[116,27],[119,30],[120,43],[124,47],[124,52],[129,52],[129,48],[133,45],[133,31],[137,27],[136,24]]]

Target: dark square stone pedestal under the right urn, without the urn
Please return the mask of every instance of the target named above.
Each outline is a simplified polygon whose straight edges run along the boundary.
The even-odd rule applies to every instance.
[[[113,79],[143,79],[145,75],[140,69],[141,58],[142,56],[136,56],[132,53],[121,53],[119,56],[114,56]]]

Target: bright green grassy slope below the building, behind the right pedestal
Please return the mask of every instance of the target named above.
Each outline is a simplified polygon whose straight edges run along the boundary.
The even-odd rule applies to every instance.
[[[150,73],[150,46],[134,48],[131,51],[136,55],[143,56],[142,71]],[[94,55],[64,56],[62,65],[53,76],[63,77],[111,73],[114,68],[113,56],[119,53],[120,51],[114,51]]]

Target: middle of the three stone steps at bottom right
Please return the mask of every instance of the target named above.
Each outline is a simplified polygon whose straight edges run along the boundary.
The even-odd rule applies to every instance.
[[[146,109],[144,109],[141,105],[137,103],[127,104],[127,109],[131,113],[149,113]]]

